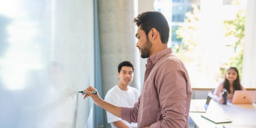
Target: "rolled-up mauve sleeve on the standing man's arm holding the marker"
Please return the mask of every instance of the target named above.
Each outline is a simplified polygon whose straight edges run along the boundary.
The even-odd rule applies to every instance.
[[[131,123],[138,122],[138,110],[140,106],[141,96],[138,98],[137,102],[134,104],[134,107],[121,106],[121,119]]]

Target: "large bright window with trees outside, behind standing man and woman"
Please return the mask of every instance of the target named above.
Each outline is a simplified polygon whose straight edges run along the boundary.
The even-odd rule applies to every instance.
[[[246,3],[241,2],[246,1],[229,5],[169,1],[171,11],[164,14],[171,17],[167,19],[171,28],[169,44],[186,65],[191,86],[215,88],[229,67],[238,68],[241,76],[244,35],[240,33],[244,33],[246,14]]]

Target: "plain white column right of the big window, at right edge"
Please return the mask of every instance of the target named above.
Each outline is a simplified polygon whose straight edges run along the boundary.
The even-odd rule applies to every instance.
[[[256,1],[247,1],[247,12],[245,19],[245,45],[243,55],[243,68],[241,84],[244,87],[256,87]]]

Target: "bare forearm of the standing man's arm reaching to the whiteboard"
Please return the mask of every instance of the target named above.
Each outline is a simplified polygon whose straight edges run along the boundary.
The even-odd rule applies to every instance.
[[[98,104],[101,108],[105,109],[109,113],[121,118],[121,106],[110,104],[104,100],[101,100]]]

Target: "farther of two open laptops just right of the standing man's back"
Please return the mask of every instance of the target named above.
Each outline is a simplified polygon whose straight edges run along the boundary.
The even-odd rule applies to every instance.
[[[207,95],[206,103],[204,104],[204,106],[191,106],[189,112],[205,113],[212,99],[212,95],[213,95],[212,92],[209,91]]]

